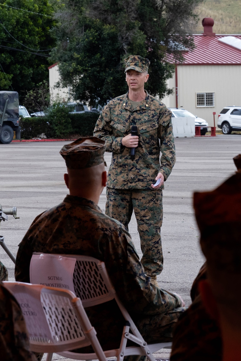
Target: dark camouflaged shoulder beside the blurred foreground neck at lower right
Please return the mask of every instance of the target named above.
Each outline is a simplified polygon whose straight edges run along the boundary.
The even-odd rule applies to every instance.
[[[170,361],[221,361],[222,340],[218,323],[207,313],[198,285],[207,279],[206,263],[191,287],[190,307],[180,316],[173,332]]]

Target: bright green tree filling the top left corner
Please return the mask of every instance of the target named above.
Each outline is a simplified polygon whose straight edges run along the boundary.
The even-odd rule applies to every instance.
[[[20,101],[48,81],[57,6],[57,0],[0,0],[0,87],[17,91]]]

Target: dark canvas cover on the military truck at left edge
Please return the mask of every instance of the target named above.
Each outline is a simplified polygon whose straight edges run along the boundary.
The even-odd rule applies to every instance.
[[[0,91],[0,119],[3,115],[4,106],[8,99],[4,120],[19,118],[18,93],[16,91]]]

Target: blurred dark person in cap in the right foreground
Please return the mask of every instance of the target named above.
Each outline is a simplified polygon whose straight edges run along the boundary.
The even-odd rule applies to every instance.
[[[240,360],[241,155],[233,160],[236,174],[214,191],[194,193],[207,261],[177,322],[171,361]]]

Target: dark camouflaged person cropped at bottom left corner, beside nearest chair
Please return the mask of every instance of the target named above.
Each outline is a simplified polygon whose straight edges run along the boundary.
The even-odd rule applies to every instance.
[[[30,351],[25,321],[16,299],[0,283],[0,359],[36,361]]]

